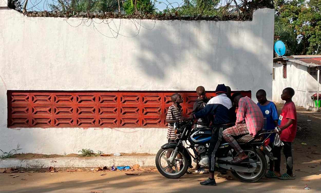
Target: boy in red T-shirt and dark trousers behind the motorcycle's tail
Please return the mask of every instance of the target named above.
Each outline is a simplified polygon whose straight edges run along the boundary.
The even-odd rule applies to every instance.
[[[292,158],[292,147],[291,144],[297,133],[297,111],[294,103],[292,102],[292,97],[294,96],[294,90],[291,87],[284,88],[281,98],[285,101],[285,104],[282,108],[278,125],[280,126],[280,139],[284,143],[283,153],[286,159],[286,173],[281,176],[280,173],[280,160],[281,160],[281,149],[282,146],[277,147],[275,150],[274,157],[277,160],[274,160],[274,172],[275,175],[281,176],[279,179],[295,179],[293,176],[293,158]]]

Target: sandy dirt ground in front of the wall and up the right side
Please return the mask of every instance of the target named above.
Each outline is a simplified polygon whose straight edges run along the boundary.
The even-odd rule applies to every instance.
[[[277,104],[279,113],[282,105]],[[297,107],[298,133],[293,142],[295,180],[261,179],[257,183],[243,183],[237,179],[216,177],[218,186],[204,187],[198,180],[206,174],[186,174],[180,179],[166,179],[158,172],[142,172],[128,176],[124,171],[10,173],[0,174],[0,192],[3,193],[86,193],[103,192],[313,192],[321,193],[321,113],[312,113]],[[311,121],[307,121],[311,120]],[[307,143],[302,145],[301,143]],[[282,173],[285,161],[282,157]],[[101,175],[106,174],[106,175]],[[309,190],[304,190],[308,184]]]

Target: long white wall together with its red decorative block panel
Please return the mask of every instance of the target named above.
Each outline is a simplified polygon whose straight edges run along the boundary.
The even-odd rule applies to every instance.
[[[6,6],[1,0],[0,5]],[[273,9],[252,21],[26,17],[0,9],[0,149],[156,153],[169,96],[226,84],[272,99]],[[208,92],[210,94],[210,92]],[[253,94],[254,93],[254,94]]]

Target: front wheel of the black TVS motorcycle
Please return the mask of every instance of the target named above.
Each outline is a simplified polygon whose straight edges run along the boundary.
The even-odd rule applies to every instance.
[[[184,153],[181,151],[178,151],[178,153],[182,155],[182,159],[179,159],[178,156],[176,156],[175,157],[175,159],[177,160],[176,166],[175,165],[169,166],[167,162],[167,157],[166,157],[166,153],[169,150],[174,151],[174,149],[160,148],[160,150],[157,152],[156,158],[155,158],[156,168],[160,172],[160,174],[166,178],[171,178],[171,179],[180,178],[186,173],[190,163],[188,162]],[[183,167],[182,168],[179,167],[179,170],[178,170],[179,162],[183,163]],[[174,168],[173,170],[176,170],[176,173],[169,173],[168,172],[169,167],[172,169]]]

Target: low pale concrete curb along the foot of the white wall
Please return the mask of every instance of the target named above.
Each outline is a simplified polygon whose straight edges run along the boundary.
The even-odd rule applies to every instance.
[[[95,168],[116,166],[155,167],[155,156],[61,157],[37,159],[0,159],[0,168]]]

